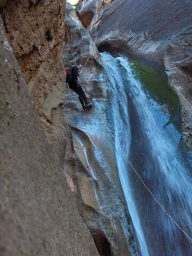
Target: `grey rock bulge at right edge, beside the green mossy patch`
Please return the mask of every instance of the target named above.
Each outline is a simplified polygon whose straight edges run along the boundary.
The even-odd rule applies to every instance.
[[[186,141],[192,147],[192,26],[174,37],[164,54],[166,70],[171,72],[171,84],[177,89],[185,111],[183,130]]]

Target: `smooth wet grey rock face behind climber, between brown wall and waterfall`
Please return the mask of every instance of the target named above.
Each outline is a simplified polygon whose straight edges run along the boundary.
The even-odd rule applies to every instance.
[[[118,178],[113,148],[109,142],[105,144],[107,135],[104,126],[101,127],[103,131],[97,133],[98,127],[101,126],[97,111],[102,108],[103,113],[100,112],[100,115],[105,119],[105,111],[109,104],[101,56],[89,32],[77,19],[73,7],[70,4],[66,7],[64,65],[66,68],[77,63],[82,63],[84,66],[89,58],[82,70],[81,84],[87,96],[93,99],[96,110],[91,108],[84,111],[78,95],[67,89],[65,175],[71,191],[76,196],[78,211],[92,234],[99,254],[130,255],[127,242],[129,238],[133,239],[130,245],[133,251],[135,248],[137,251],[137,245]],[[113,163],[110,167],[105,169],[99,163],[97,150],[98,154],[103,154],[101,159],[104,162],[108,157],[106,151],[109,151],[109,156],[113,158],[113,160],[109,159],[109,162]]]

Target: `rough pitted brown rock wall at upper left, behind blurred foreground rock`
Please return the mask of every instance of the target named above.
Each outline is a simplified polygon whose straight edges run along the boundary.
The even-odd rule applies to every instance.
[[[22,0],[0,4],[13,53],[29,85],[44,131],[62,161],[66,145],[62,62],[66,1]]]

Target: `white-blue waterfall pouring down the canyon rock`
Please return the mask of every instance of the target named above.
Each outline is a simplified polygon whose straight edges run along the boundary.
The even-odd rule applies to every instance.
[[[191,166],[174,141],[167,115],[143,90],[126,58],[102,53],[111,92],[115,154],[135,233],[143,256],[191,255],[192,243],[154,201],[127,163],[119,146],[171,217],[192,236]],[[178,134],[178,137],[180,134]],[[118,145],[117,145],[118,144]]]

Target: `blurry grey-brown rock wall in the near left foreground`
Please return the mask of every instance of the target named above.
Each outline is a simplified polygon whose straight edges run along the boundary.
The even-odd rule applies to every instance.
[[[0,254],[98,255],[0,18]]]

